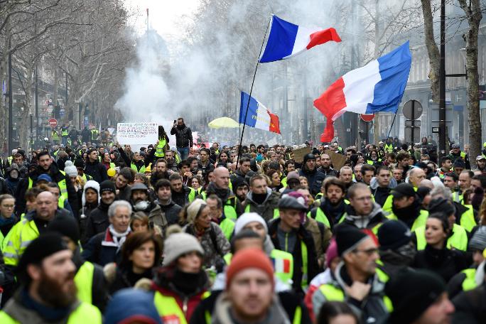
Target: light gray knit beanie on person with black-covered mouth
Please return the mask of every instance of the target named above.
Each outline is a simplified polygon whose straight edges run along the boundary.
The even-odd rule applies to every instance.
[[[164,257],[162,266],[168,266],[181,255],[193,251],[204,255],[201,244],[193,235],[187,233],[171,234],[163,243]]]

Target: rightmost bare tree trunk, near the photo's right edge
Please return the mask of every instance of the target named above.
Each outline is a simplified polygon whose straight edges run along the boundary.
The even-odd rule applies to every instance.
[[[468,2],[469,4],[467,4]],[[481,116],[479,102],[479,74],[477,72],[477,33],[482,18],[479,0],[459,0],[460,7],[468,18],[468,31],[463,35],[466,42],[466,73],[468,73],[468,118],[470,162],[481,154]]]

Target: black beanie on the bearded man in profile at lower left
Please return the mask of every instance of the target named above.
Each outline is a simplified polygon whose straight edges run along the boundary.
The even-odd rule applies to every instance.
[[[21,283],[30,281],[27,274],[27,266],[29,264],[41,264],[46,257],[65,249],[69,249],[68,244],[58,233],[44,233],[37,239],[34,239],[31,244],[28,244],[21,259],[18,261],[16,275],[19,281]]]

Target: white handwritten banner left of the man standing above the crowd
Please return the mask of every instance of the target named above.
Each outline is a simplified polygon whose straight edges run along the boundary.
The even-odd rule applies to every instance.
[[[157,123],[118,123],[117,141],[119,144],[148,145],[158,139]]]

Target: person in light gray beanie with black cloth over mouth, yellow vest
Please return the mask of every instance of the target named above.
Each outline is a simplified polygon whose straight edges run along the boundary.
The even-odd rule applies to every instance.
[[[171,234],[163,245],[163,263],[151,285],[153,303],[163,323],[188,323],[210,287],[202,269],[205,252],[187,233]]]

